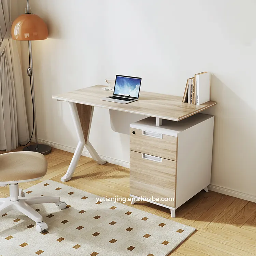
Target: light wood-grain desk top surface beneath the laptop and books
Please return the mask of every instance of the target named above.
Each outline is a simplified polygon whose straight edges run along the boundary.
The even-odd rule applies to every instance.
[[[214,101],[208,101],[201,105],[182,102],[182,97],[166,94],[149,93],[140,91],[138,101],[128,104],[120,104],[100,100],[111,96],[112,91],[105,91],[103,85],[95,85],[84,89],[71,91],[59,95],[53,95],[53,99],[97,106],[100,108],[113,109],[145,116],[158,117],[167,120],[180,121],[188,116],[199,113],[216,105]]]

